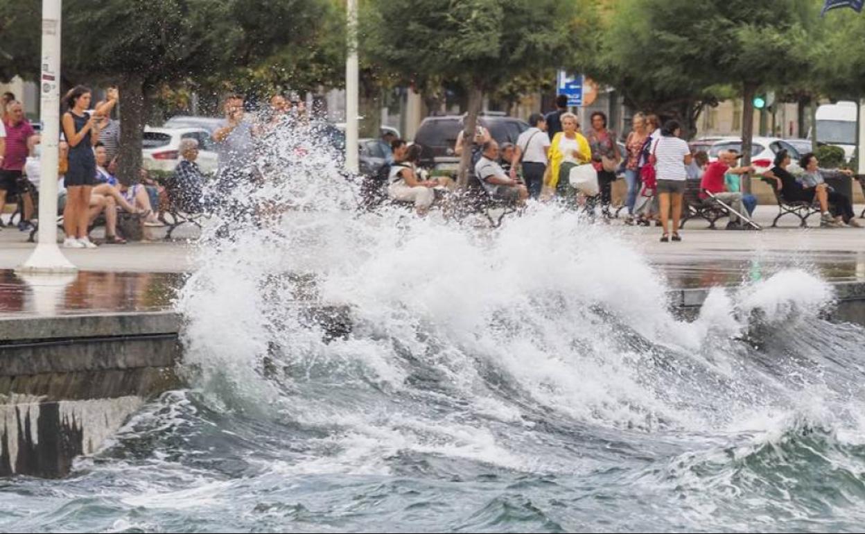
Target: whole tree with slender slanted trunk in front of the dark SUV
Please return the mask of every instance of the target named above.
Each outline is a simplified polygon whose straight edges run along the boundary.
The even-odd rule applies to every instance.
[[[359,42],[370,61],[420,89],[433,80],[465,87],[463,188],[484,93],[571,67],[593,14],[588,0],[369,0],[367,8]]]

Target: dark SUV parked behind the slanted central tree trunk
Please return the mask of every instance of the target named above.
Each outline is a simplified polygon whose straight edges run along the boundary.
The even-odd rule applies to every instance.
[[[463,129],[460,115],[427,117],[420,123],[414,142],[423,147],[420,164],[436,170],[457,170],[459,158],[453,153],[457,134]],[[529,129],[529,124],[503,113],[481,113],[477,117],[480,125],[490,130],[492,138],[502,143],[516,143],[516,138]]]

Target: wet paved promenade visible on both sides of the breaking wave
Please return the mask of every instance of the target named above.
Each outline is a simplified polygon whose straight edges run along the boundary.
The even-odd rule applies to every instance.
[[[760,206],[755,218],[769,226],[775,214],[777,208]],[[865,282],[865,228],[798,228],[788,223],[762,232],[730,232],[689,222],[680,243],[659,242],[660,228],[620,222],[608,228],[655,265],[671,290],[736,286],[795,267],[830,282]],[[22,276],[11,269],[27,259],[34,245],[6,228],[0,232],[0,318],[170,310],[184,273],[196,263],[195,232],[181,229],[179,241],[64,249],[79,273]]]

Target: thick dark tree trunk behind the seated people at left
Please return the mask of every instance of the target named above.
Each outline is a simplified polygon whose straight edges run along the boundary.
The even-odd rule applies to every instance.
[[[120,118],[120,146],[118,147],[118,180],[138,183],[141,170],[141,138],[144,132],[144,79],[124,76],[118,84],[123,116]]]

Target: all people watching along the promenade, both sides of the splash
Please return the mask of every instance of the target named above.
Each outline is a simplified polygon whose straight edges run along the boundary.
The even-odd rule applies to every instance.
[[[137,183],[117,178],[119,158],[119,121],[112,110],[119,93],[111,87],[106,100],[91,110],[93,95],[87,87],[78,86],[64,98],[61,116],[59,205],[63,215],[66,248],[95,248],[89,237],[93,222],[104,216],[106,244],[125,243],[119,233],[119,216],[136,216],[142,226],[163,224],[163,187],[142,170]],[[232,94],[224,101],[225,121],[212,134],[219,156],[216,196],[229,196],[240,183],[254,182],[254,154],[268,136],[281,132],[281,126],[308,123],[302,102],[275,94],[265,113],[251,116],[245,100]],[[699,181],[700,202],[721,203],[728,208],[727,229],[756,228],[748,224],[757,199],[743,192],[742,178],[758,174],[753,166],[737,165],[740,154],[721,151],[714,161],[706,152],[692,153],[682,138],[682,127],[676,120],[661,125],[655,114],[635,113],[631,132],[619,137],[608,128],[604,113],[590,116],[587,132],[580,128],[580,118],[567,109],[567,97],[560,95],[556,110],[529,117],[529,129],[516,143],[499,145],[483,125],[477,125],[471,147],[469,181],[490,199],[520,206],[529,199],[549,201],[557,198],[574,209],[584,209],[595,217],[599,208],[605,222],[612,218],[612,184],[624,174],[627,192],[623,200],[625,224],[662,227],[661,241],[681,241],[679,233],[683,201],[688,180]],[[0,122],[0,212],[10,196],[20,196],[21,217],[18,228],[32,228],[35,213],[34,196],[39,187],[38,162],[40,137],[24,119],[21,102],[15,95],[3,95],[3,120]],[[438,199],[449,197],[455,189],[451,177],[430,177],[420,164],[420,145],[409,145],[399,138],[388,139],[392,154],[381,180],[386,195],[401,203],[412,203],[419,215]],[[453,151],[464,151],[460,131]],[[199,212],[208,203],[203,193],[205,178],[195,163],[199,151],[194,138],[183,138],[181,162],[173,175],[174,191],[190,212]],[[853,207],[849,197],[832,190],[826,178],[833,173],[819,168],[813,154],[802,158],[801,176],[794,177],[787,167],[791,158],[781,151],[771,169],[759,176],[791,203],[816,203],[824,227],[854,226]],[[237,203],[212,202],[229,209],[243,209]],[[2,224],[0,220],[0,224]]]

